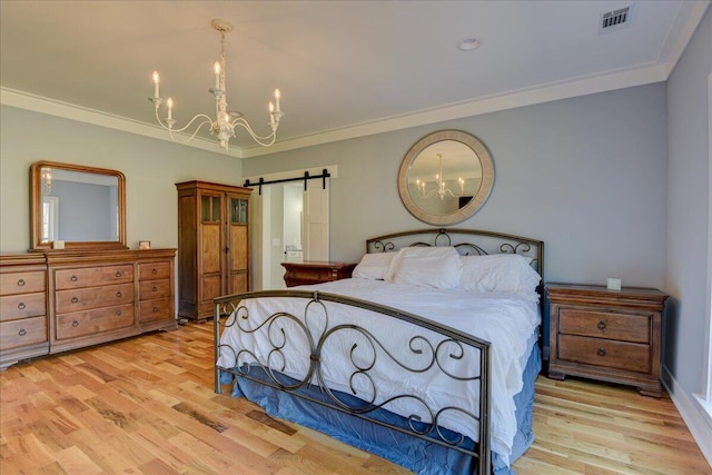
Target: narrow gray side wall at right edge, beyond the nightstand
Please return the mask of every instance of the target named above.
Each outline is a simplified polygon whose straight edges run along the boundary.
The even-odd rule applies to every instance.
[[[669,78],[668,273],[671,305],[663,376],[688,425],[706,441],[712,459],[712,419],[694,402],[703,392],[710,335],[710,97],[712,10],[708,10]],[[706,335],[705,335],[706,333]],[[699,424],[694,426],[693,424]]]

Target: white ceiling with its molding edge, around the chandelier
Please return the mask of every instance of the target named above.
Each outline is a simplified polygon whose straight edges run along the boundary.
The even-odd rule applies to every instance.
[[[632,6],[630,24],[601,16]],[[214,116],[214,18],[227,34],[230,110],[278,141],[257,156],[528,103],[664,81],[709,2],[646,1],[7,1],[0,2],[2,103],[167,138],[150,75],[178,126]],[[461,51],[458,41],[481,47]],[[162,115],[165,116],[165,113]],[[239,132],[238,132],[239,133]],[[220,151],[212,141],[192,146]]]

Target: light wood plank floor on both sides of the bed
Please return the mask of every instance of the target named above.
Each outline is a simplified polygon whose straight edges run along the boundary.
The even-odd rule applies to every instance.
[[[21,363],[0,373],[0,473],[402,474],[212,393],[211,325]],[[528,474],[710,474],[669,397],[540,376]]]

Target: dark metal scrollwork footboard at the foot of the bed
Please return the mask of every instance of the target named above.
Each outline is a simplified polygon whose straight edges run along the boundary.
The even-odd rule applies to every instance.
[[[299,304],[269,315],[259,315],[246,304],[271,297],[289,297]],[[221,393],[220,373],[229,373],[465,453],[475,459],[477,473],[491,472],[488,342],[395,308],[335,294],[266,290],[220,297],[215,303],[216,393]],[[399,325],[407,325],[407,335],[380,335],[378,328],[335,318],[342,315],[340,308],[353,307],[404,321]],[[230,334],[229,343],[221,340],[224,333]],[[403,383],[416,380],[417,375],[439,388],[475,397],[465,397],[466,404],[438,404],[424,388]],[[299,392],[310,387],[326,397]],[[379,409],[399,414],[407,424],[396,426],[375,418]],[[453,420],[466,425],[477,442],[474,448],[465,443],[463,431],[448,429]]]

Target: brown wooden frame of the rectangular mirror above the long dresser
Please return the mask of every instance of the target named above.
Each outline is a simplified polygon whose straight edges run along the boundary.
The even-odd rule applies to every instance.
[[[37,161],[30,167],[30,235],[31,250],[55,250],[53,241],[42,243],[42,168],[52,168],[75,172],[107,175],[118,179],[119,238],[116,241],[65,241],[67,250],[107,250],[127,249],[126,246],[126,178],[117,170],[87,167],[83,165],[60,164],[56,161]]]

